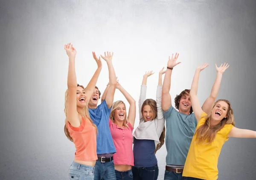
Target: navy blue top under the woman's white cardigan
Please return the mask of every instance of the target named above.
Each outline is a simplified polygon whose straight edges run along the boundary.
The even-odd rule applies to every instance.
[[[152,167],[157,164],[154,140],[134,138],[134,166]]]

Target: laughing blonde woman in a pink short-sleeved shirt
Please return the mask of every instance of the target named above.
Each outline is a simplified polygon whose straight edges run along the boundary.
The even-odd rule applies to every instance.
[[[134,166],[132,131],[136,115],[136,102],[119,83],[116,84],[116,89],[120,90],[130,104],[128,117],[123,101],[114,102],[110,113],[109,127],[116,147],[116,153],[113,155],[116,180],[132,180],[131,168]]]

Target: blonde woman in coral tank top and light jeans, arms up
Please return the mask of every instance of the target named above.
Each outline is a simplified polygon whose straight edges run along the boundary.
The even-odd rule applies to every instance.
[[[98,68],[86,88],[76,83],[75,58],[76,49],[71,43],[64,45],[69,57],[67,75],[67,91],[65,93],[65,126],[64,132],[67,138],[75,144],[75,159],[68,171],[70,180],[93,180],[94,166],[96,163],[96,133],[97,128],[90,119],[88,112],[88,100],[95,88],[102,62],[93,57]]]

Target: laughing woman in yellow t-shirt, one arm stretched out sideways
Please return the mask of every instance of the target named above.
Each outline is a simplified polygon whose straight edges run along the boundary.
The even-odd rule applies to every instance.
[[[207,66],[206,63],[196,68],[189,94],[198,125],[183,170],[183,177],[187,180],[217,180],[218,157],[225,141],[229,137],[256,138],[256,131],[234,127],[233,109],[225,99],[216,101],[208,115],[203,112],[197,91],[199,74]],[[220,68],[218,73],[222,74],[228,65],[221,65]]]

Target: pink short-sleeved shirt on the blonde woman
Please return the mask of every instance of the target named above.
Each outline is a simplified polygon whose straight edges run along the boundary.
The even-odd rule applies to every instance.
[[[123,129],[109,119],[109,128],[116,147],[116,153],[113,155],[114,163],[134,166],[133,127],[128,123],[128,128]]]

